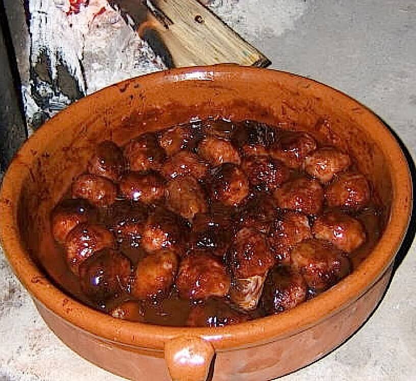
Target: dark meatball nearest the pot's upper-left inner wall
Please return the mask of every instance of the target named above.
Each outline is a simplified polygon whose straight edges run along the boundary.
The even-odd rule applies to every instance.
[[[110,140],[102,141],[88,163],[88,172],[118,182],[125,168],[123,151]]]

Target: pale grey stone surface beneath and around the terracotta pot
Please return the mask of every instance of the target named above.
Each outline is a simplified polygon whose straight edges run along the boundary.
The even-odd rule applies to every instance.
[[[250,2],[252,0],[240,0]],[[279,3],[279,2],[276,2]],[[250,42],[273,67],[315,78],[369,106],[416,153],[416,4],[413,0],[315,0],[294,27]],[[268,25],[267,15],[259,20]],[[416,379],[416,246],[380,306],[344,345],[284,381]],[[119,379],[67,349],[45,327],[0,260],[0,379]],[[19,328],[16,321],[19,322]],[[151,371],[149,371],[151,375]]]

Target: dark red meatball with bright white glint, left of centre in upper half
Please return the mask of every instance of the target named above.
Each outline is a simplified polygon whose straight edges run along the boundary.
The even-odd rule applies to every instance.
[[[120,193],[129,200],[152,204],[163,198],[165,180],[157,172],[129,172],[120,181]]]

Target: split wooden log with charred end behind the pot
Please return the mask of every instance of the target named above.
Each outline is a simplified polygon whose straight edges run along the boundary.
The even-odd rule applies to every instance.
[[[112,3],[134,20],[139,35],[168,67],[217,63],[266,67],[271,63],[196,0],[144,1],[113,0]]]

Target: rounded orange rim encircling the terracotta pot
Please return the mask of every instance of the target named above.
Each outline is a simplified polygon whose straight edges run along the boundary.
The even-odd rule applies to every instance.
[[[349,109],[356,109],[358,106],[361,112],[355,113],[354,117],[358,120],[365,118],[368,126],[367,133],[382,148],[392,177],[391,213],[379,242],[358,268],[325,293],[290,311],[222,328],[167,327],[116,319],[95,311],[57,288],[30,258],[30,253],[21,242],[17,225],[20,189],[24,179],[28,176],[30,166],[36,160],[31,147],[36,142],[48,141],[50,137],[48,139],[47,135],[54,136],[51,132],[62,128],[60,127],[61,120],[64,121],[66,117],[70,117],[70,113],[77,107],[87,106],[88,103],[94,102],[108,88],[138,82],[143,89],[151,82],[213,79],[216,76],[236,76],[259,71],[263,76],[270,76],[270,79],[292,77],[304,83],[304,86],[314,85],[326,91],[329,90],[333,99],[342,99]],[[192,335],[211,341],[216,350],[225,351],[256,346],[296,334],[346,308],[368,291],[391,265],[402,244],[410,220],[412,184],[407,160],[393,134],[371,110],[341,91],[315,80],[278,70],[238,65],[213,65],[176,68],[128,79],[101,89],[61,111],[37,130],[15,155],[3,178],[0,206],[2,210],[0,241],[6,257],[31,296],[50,312],[76,327],[119,345],[163,350],[164,344],[174,337]]]

